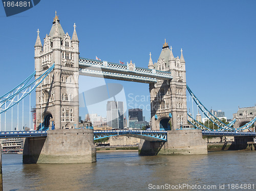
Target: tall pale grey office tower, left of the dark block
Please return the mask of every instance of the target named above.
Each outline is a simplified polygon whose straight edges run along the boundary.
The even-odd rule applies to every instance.
[[[106,121],[113,129],[124,128],[123,102],[108,101],[106,103]]]

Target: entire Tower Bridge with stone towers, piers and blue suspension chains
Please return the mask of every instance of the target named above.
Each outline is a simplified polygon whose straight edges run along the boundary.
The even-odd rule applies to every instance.
[[[186,84],[186,69],[183,51],[174,57],[172,46],[164,42],[158,61],[150,59],[147,68],[134,63],[117,64],[79,57],[79,40],[74,24],[72,37],[65,33],[55,14],[49,35],[41,43],[39,30],[35,42],[35,81],[25,80],[12,91],[0,98],[0,114],[18,104],[35,88],[36,130],[1,132],[3,137],[27,137],[24,146],[24,163],[76,163],[95,162],[94,139],[129,135],[142,138],[140,155],[156,154],[207,154],[204,135],[255,136],[255,133],[242,133],[256,120],[238,129],[226,125],[214,117],[197,99]],[[32,76],[33,76],[32,75]],[[150,131],[93,131],[77,129],[79,124],[79,75],[149,84],[151,101]],[[31,79],[31,76],[29,77]],[[25,90],[26,89],[26,90]],[[218,132],[208,129],[187,115],[186,89],[198,107],[212,123],[219,127]],[[19,94],[23,96],[19,97]],[[9,103],[9,104],[8,104]],[[171,128],[172,125],[172,128]],[[49,129],[48,131],[44,131]],[[160,129],[164,129],[160,131]],[[242,134],[241,134],[242,133]]]

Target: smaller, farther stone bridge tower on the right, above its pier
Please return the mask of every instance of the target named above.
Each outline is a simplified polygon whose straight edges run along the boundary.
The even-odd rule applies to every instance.
[[[173,76],[171,81],[158,80],[157,83],[150,84],[152,129],[171,130],[170,121],[172,130],[188,125],[186,69],[182,49],[180,58],[175,58],[172,46],[169,49],[168,43],[165,41],[157,63],[153,64],[150,54],[148,68],[169,71]]]

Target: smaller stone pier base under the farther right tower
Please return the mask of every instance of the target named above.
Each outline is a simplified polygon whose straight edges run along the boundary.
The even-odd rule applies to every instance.
[[[207,154],[207,143],[198,129],[167,132],[166,142],[142,140],[139,155],[199,155]]]

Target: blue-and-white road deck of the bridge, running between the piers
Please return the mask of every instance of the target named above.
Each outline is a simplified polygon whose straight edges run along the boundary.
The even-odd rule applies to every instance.
[[[202,131],[204,136],[256,136],[256,132],[240,131]],[[142,138],[148,141],[166,141],[167,131],[153,130],[95,130],[94,139],[110,136],[131,136]],[[47,131],[1,131],[0,138],[19,138],[19,137],[40,137],[47,136]]]

